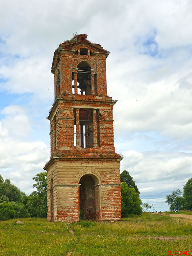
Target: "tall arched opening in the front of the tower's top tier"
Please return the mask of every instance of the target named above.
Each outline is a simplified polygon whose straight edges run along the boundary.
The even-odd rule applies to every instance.
[[[77,82],[81,95],[91,95],[91,67],[86,61],[82,61],[77,66]]]

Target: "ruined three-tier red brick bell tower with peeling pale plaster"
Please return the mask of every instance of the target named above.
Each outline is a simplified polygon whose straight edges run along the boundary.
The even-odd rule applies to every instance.
[[[59,45],[51,72],[51,157],[47,170],[48,221],[121,218],[120,157],[115,153],[113,105],[107,96],[109,52],[75,35]]]

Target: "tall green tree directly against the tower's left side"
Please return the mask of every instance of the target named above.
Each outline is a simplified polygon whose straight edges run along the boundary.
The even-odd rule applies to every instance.
[[[27,209],[31,217],[47,217],[47,172],[38,173],[33,180],[37,191],[28,197]]]

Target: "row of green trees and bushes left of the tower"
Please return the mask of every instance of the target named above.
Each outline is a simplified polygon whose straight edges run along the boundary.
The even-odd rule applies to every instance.
[[[23,217],[47,216],[47,173],[37,174],[33,180],[33,191],[27,196],[9,179],[3,180],[0,174],[0,221]]]

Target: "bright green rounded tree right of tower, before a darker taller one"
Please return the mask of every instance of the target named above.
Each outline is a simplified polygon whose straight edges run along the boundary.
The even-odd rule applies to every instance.
[[[129,188],[126,182],[121,184],[121,216],[133,213],[140,215],[142,213],[141,199],[134,188]]]

